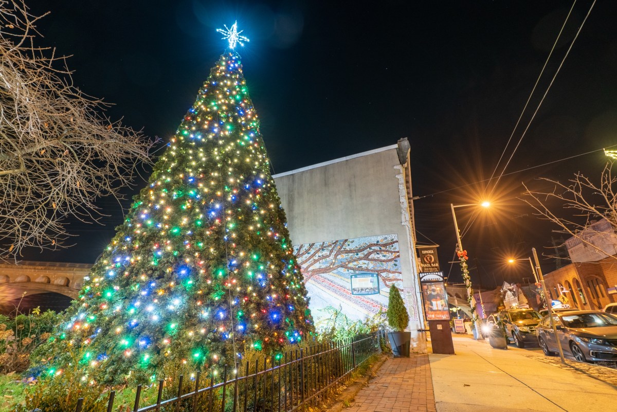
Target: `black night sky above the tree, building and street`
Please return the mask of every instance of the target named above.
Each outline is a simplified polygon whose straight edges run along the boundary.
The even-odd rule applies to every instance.
[[[41,4],[44,3],[44,4]],[[31,1],[41,43],[72,55],[73,80],[114,103],[108,115],[167,142],[226,43],[215,32],[238,20],[251,39],[239,49],[274,173],[407,137],[412,146],[418,243],[440,245],[451,282],[450,203],[470,204],[493,191],[491,212],[458,208],[472,277],[484,286],[528,276],[506,267],[531,247],[554,254],[553,229],[518,197],[521,182],[598,178],[602,151],[617,144],[617,2],[598,1],[499,184],[492,172],[565,20],[563,1]],[[513,136],[505,159],[557,70],[591,1],[578,1],[557,49]],[[160,152],[159,152],[160,154]],[[571,160],[555,162],[566,157]],[[544,167],[536,167],[555,162]],[[502,160],[502,166],[505,162]],[[531,168],[527,171],[520,170]],[[501,169],[499,169],[500,171]],[[518,172],[518,173],[513,173]],[[146,170],[147,177],[148,171]],[[498,173],[499,174],[499,173]],[[133,194],[143,181],[136,182]],[[488,187],[488,188],[487,188]],[[77,245],[30,260],[93,263],[122,222],[103,200],[106,226],[72,225]],[[125,206],[128,202],[125,203]],[[474,215],[474,213],[476,213]],[[379,219],[379,216],[375,216]],[[478,258],[478,265],[473,261]],[[543,270],[553,270],[549,258]]]

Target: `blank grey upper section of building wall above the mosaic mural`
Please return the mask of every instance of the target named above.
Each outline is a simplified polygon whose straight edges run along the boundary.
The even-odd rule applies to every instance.
[[[273,176],[294,244],[397,233],[396,149]],[[400,167],[400,166],[399,166]]]

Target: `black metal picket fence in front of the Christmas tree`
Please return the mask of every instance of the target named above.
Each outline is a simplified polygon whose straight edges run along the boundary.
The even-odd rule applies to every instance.
[[[384,331],[362,334],[340,342],[315,344],[278,356],[244,361],[242,368],[223,368],[223,374],[197,372],[193,390],[186,388],[184,376],[178,378],[176,396],[163,400],[165,381],[160,379],[157,401],[139,408],[142,385],[135,395],[134,412],[292,412],[305,405],[316,405],[368,358],[381,352]],[[240,371],[238,369],[244,369]],[[244,372],[242,374],[242,372]],[[205,385],[205,387],[202,387]],[[115,391],[109,394],[107,412],[114,408]],[[75,412],[81,412],[83,398]]]

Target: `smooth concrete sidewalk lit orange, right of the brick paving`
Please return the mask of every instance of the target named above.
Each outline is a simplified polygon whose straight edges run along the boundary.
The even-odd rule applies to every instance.
[[[453,342],[456,355],[429,354],[437,412],[617,412],[617,389],[605,382],[522,349],[466,336]]]

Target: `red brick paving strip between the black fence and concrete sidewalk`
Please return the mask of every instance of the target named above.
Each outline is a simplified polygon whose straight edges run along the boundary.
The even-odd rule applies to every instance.
[[[428,355],[389,358],[345,412],[435,412]]]

